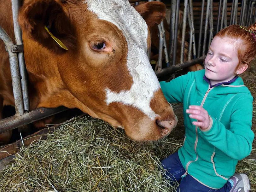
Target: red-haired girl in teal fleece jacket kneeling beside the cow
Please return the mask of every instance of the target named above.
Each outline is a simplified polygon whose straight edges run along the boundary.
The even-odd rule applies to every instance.
[[[160,82],[170,103],[183,103],[184,145],[162,160],[181,192],[248,192],[236,164],[252,150],[253,97],[240,75],[256,55],[256,23],[228,26],[213,38],[205,69]]]

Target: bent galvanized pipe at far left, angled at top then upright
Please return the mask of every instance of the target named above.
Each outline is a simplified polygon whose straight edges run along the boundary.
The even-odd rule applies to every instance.
[[[11,78],[12,78],[13,96],[14,96],[16,114],[23,115],[24,108],[23,108],[23,100],[22,100],[22,92],[21,92],[18,56],[17,56],[17,53],[12,52],[13,42],[12,42],[11,38],[9,37],[9,35],[2,28],[2,26],[0,26],[0,38],[3,40],[3,42],[5,44],[5,49],[9,55],[10,71],[11,71]]]

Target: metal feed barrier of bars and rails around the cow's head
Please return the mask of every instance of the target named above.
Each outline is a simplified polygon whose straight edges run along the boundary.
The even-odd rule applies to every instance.
[[[129,0],[130,3],[137,5],[139,1]],[[153,0],[148,0],[153,1]],[[160,0],[158,0],[160,1]],[[256,0],[220,0],[215,2],[213,0],[201,1],[201,20],[198,34],[195,32],[195,20],[193,2],[192,0],[169,0],[171,2],[171,17],[170,17],[170,41],[167,49],[167,42],[165,37],[165,28],[163,22],[158,25],[159,32],[159,57],[158,67],[155,73],[158,77],[171,74],[177,70],[202,62],[206,55],[213,36],[223,27],[227,25],[250,25],[256,20]],[[12,76],[13,93],[15,99],[16,114],[12,117],[0,120],[0,134],[22,125],[32,123],[34,121],[43,119],[50,115],[67,110],[61,106],[59,108],[37,108],[30,111],[29,96],[26,77],[26,66],[23,53],[22,33],[18,25],[18,9],[20,7],[19,0],[12,0],[12,12],[15,31],[15,43],[12,42],[9,35],[0,26],[0,38],[3,40],[6,51],[9,54],[10,69]],[[177,56],[177,32],[178,32],[178,17],[180,6],[183,3],[183,26],[182,26],[182,40],[181,40],[181,55],[180,62],[176,63]],[[195,3],[195,2],[194,2]],[[214,28],[214,10],[213,3],[218,3],[218,17],[217,25]],[[189,48],[188,61],[184,62],[184,45],[186,24],[189,24]],[[208,27],[209,26],[209,27]],[[203,34],[204,33],[204,34]],[[198,42],[196,42],[195,35],[198,35]],[[196,51],[197,48],[197,51]],[[150,55],[150,50],[148,52]],[[162,54],[163,53],[163,54]],[[192,58],[193,54],[193,59]],[[162,67],[162,55],[164,55],[164,62],[166,67]],[[150,56],[149,56],[150,57]]]

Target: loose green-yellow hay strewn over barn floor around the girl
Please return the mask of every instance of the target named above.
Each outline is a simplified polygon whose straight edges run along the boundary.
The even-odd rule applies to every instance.
[[[256,66],[243,75],[253,101],[256,131]],[[183,143],[182,104],[173,105],[179,119],[175,130],[157,142],[136,143],[122,129],[88,116],[63,124],[47,140],[22,147],[14,162],[0,172],[0,191],[137,191],[170,192],[158,171],[160,160]],[[256,140],[252,153],[239,161],[236,172],[250,178],[256,191]]]

